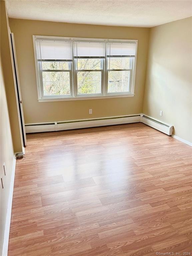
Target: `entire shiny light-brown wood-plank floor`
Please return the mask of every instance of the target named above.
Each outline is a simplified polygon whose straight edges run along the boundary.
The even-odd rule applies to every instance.
[[[27,142],[8,256],[192,255],[190,146],[142,123]]]

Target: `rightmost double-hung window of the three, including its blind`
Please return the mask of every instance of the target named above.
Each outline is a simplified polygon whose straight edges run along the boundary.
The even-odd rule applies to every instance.
[[[132,91],[135,55],[134,42],[107,42],[107,94],[127,94]]]

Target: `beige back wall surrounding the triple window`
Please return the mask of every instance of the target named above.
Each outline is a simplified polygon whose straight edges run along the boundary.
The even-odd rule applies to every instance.
[[[9,19],[14,33],[25,123],[63,121],[142,112],[149,28],[97,26]],[[32,35],[138,39],[135,96],[98,100],[38,102]],[[93,114],[89,115],[89,108]]]

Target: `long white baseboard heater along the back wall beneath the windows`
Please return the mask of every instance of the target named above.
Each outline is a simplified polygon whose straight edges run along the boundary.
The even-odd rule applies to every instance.
[[[128,124],[140,122],[141,115],[114,116],[105,118],[92,118],[81,120],[69,120],[48,123],[26,124],[26,133],[62,131],[89,127],[98,127],[116,124]]]

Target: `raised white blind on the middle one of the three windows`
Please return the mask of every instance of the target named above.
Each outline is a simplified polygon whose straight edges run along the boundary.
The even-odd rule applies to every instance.
[[[105,43],[74,41],[73,52],[77,58],[105,58]]]

